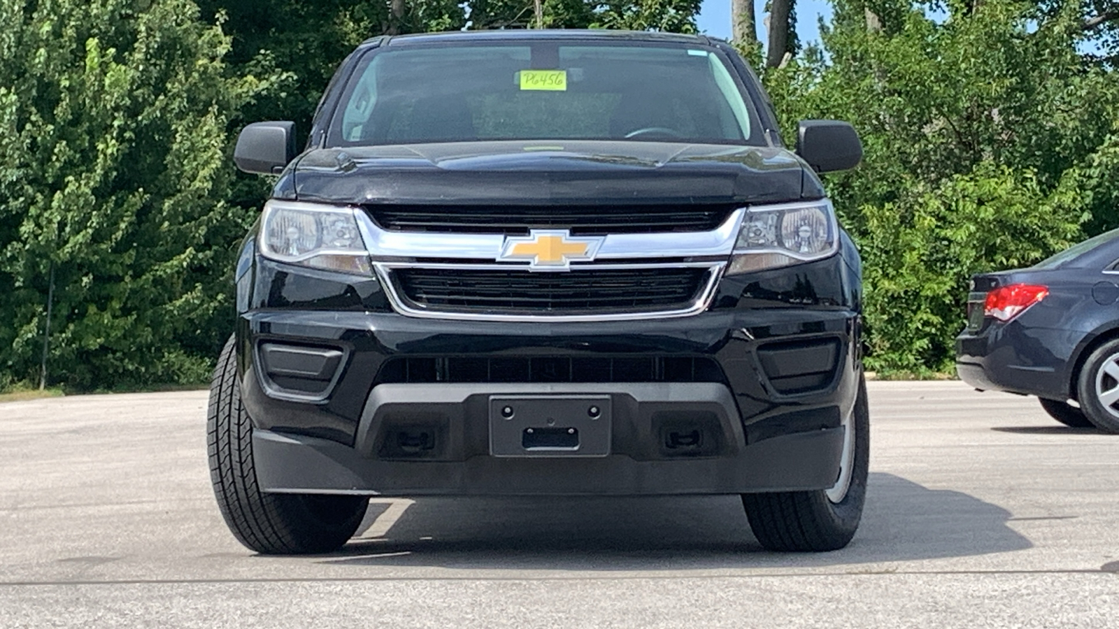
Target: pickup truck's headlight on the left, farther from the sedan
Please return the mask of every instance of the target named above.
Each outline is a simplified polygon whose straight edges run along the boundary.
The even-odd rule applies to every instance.
[[[368,275],[369,252],[351,207],[270,200],[261,219],[261,254],[313,269]]]

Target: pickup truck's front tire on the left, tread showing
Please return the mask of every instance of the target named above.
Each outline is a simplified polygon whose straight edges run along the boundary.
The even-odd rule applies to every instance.
[[[210,481],[234,537],[263,554],[328,553],[361,524],[364,496],[265,494],[253,467],[253,425],[241,404],[234,339],[226,342],[210,384],[206,420]]]

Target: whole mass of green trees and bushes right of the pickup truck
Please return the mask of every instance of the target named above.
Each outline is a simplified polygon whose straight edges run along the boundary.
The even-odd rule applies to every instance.
[[[947,15],[931,9],[944,7]],[[1056,7],[1056,3],[1054,3]],[[969,275],[1119,225],[1119,76],[1075,3],[836,0],[822,48],[767,68],[786,137],[836,118],[858,169],[829,176],[863,245],[868,363],[948,369]],[[1111,179],[1113,181],[1113,179]]]

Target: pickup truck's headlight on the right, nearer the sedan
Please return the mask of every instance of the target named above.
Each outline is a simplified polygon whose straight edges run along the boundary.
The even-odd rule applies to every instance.
[[[822,260],[839,248],[831,201],[752,207],[746,212],[726,272],[749,273]]]

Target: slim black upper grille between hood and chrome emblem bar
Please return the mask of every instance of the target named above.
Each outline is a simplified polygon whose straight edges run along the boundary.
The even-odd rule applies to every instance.
[[[573,235],[709,232],[734,212],[733,205],[640,206],[425,206],[367,207],[373,219],[394,232],[527,234],[564,228]]]

